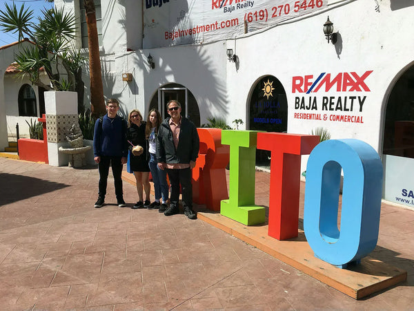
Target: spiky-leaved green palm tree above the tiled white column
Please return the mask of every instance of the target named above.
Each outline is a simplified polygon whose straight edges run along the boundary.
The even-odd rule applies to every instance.
[[[32,22],[33,11],[24,4],[18,10],[13,3],[6,3],[6,10],[0,10],[0,28],[4,32],[18,33],[19,44],[30,40],[32,45],[21,46],[15,55],[15,67],[20,75],[27,75],[32,84],[47,91],[77,91],[83,88],[81,66],[85,57],[75,52],[70,45],[75,39],[75,17],[61,10],[42,10],[39,24]],[[28,39],[23,39],[27,37]],[[66,70],[67,79],[61,77],[60,66]],[[39,71],[43,68],[50,79],[50,85],[43,84]],[[83,112],[83,93],[78,93],[78,109]]]

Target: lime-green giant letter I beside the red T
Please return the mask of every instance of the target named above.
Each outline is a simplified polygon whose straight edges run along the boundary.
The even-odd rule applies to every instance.
[[[265,209],[255,205],[255,162],[258,131],[221,131],[221,143],[230,145],[228,200],[220,214],[244,225],[265,221]]]

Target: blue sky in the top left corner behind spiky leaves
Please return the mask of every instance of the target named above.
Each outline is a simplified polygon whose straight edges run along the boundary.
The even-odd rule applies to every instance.
[[[53,3],[48,3],[45,0],[0,0],[0,10],[5,9],[5,3],[9,6],[16,3],[17,8],[19,9],[22,4],[24,4],[25,8],[30,8],[33,10],[34,18],[32,21],[37,23],[37,16],[42,16],[41,10],[43,8],[53,8]],[[3,32],[0,30],[0,46],[6,46],[6,44],[11,44],[17,41],[17,34],[13,34],[12,32]]]

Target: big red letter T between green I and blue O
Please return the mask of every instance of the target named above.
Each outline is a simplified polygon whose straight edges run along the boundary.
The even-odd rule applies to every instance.
[[[272,151],[268,235],[278,240],[297,236],[300,158],[311,153],[319,136],[258,133],[257,148]]]

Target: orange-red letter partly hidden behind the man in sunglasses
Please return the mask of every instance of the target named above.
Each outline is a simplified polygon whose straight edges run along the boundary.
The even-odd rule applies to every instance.
[[[226,166],[230,158],[227,145],[221,144],[221,129],[197,129],[200,149],[193,169],[193,200],[213,211],[228,198]]]

